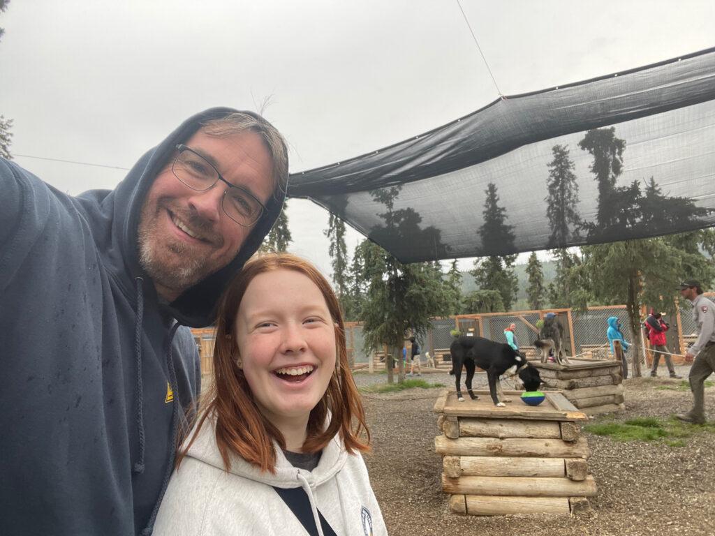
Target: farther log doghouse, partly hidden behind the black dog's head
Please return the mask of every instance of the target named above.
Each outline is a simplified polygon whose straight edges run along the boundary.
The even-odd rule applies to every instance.
[[[626,409],[621,362],[571,359],[568,364],[532,364],[538,368],[548,389],[560,389],[563,396],[586,415]]]

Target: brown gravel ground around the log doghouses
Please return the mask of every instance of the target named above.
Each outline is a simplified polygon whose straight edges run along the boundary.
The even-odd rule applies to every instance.
[[[661,367],[661,374],[665,367]],[[687,377],[689,366],[676,367]],[[713,377],[711,377],[712,379]],[[421,379],[454,389],[446,373]],[[355,374],[358,386],[384,383],[385,374]],[[626,379],[626,412],[634,417],[669,417],[689,410],[689,390],[655,389],[680,380]],[[486,385],[476,374],[474,386]],[[706,389],[706,408],[715,415],[715,387]],[[707,535],[715,534],[715,436],[700,433],[685,447],[615,442],[583,432],[598,486],[591,512],[568,515],[460,516],[448,512],[440,490],[441,460],[434,452],[439,434],[433,405],[438,389],[405,389],[364,394],[373,451],[365,455],[375,495],[391,536],[413,535]],[[602,420],[599,417],[598,420]],[[591,421],[593,422],[593,421]]]

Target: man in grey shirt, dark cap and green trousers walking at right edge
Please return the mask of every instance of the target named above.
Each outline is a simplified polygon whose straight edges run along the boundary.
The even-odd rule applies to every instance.
[[[676,417],[701,425],[705,422],[705,380],[715,372],[715,304],[703,296],[703,289],[695,279],[686,279],[678,288],[680,295],[693,305],[693,322],[698,338],[685,354],[685,359],[693,359],[688,375],[693,407]]]

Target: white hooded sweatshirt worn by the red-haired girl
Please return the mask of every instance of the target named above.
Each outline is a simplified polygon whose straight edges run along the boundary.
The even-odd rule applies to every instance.
[[[349,455],[335,436],[312,471],[298,469],[276,447],[275,475],[261,472],[237,455],[226,472],[207,420],[178,470],[174,470],[154,536],[294,536],[307,531],[272,486],[302,487],[340,536],[387,535],[363,458]],[[316,510],[317,509],[317,510]],[[322,535],[320,522],[318,533]]]

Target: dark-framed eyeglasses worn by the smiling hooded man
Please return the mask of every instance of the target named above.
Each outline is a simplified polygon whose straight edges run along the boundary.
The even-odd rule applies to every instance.
[[[197,192],[205,192],[223,181],[228,185],[221,198],[221,207],[226,215],[242,227],[251,227],[260,219],[266,207],[253,194],[221,177],[213,164],[193,149],[183,144],[178,144],[176,148],[179,154],[172,164],[174,177]]]

